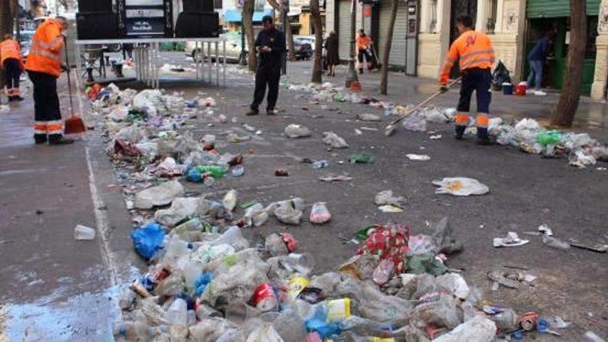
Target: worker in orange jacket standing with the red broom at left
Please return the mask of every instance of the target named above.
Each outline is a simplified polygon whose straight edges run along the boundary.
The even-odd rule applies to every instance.
[[[59,111],[57,78],[61,74],[61,49],[64,47],[62,32],[68,28],[64,17],[46,19],[38,26],[26,70],[34,84],[34,141],[36,144],[71,144],[74,140],[64,137],[64,123]]]

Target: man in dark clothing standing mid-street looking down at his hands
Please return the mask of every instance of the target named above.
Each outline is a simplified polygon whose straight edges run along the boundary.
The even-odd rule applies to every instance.
[[[266,98],[266,114],[274,115],[274,106],[278,97],[278,81],[281,79],[281,61],[285,55],[285,35],[274,27],[272,17],[267,15],[262,18],[264,29],[258,33],[254,43],[258,52],[258,70],[256,71],[256,90],[254,91],[254,102],[247,115],[257,115],[258,107],[264,99],[266,86],[268,86],[268,97]]]

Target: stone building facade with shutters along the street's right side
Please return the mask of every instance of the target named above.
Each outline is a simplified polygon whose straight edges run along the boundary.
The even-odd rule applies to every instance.
[[[326,32],[338,33],[340,57],[344,60],[348,60],[350,51],[351,7],[350,0],[327,0]],[[357,29],[363,28],[372,37],[378,57],[382,58],[391,15],[390,0],[357,1],[355,10]],[[529,51],[535,41],[553,30],[555,39],[543,86],[560,89],[569,45],[569,11],[569,0],[400,0],[389,64],[397,70],[410,70],[408,61],[416,61],[413,75],[436,78],[450,44],[458,35],[455,19],[468,14],[474,19],[475,30],[490,35],[497,61],[505,64],[514,82],[526,79]],[[582,93],[604,99],[608,80],[608,0],[587,0],[587,19],[589,39]],[[415,32],[413,47],[408,44],[412,32]]]

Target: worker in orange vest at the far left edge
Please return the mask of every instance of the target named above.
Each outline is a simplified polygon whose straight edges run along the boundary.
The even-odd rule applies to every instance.
[[[19,91],[19,77],[23,71],[23,59],[19,43],[12,38],[12,35],[5,35],[0,43],[0,68],[4,69],[6,77],[6,96],[9,101],[21,101],[21,91]]]

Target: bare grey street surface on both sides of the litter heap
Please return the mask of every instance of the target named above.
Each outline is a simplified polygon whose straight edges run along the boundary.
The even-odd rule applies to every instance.
[[[169,55],[167,61],[182,61],[180,56]],[[309,72],[307,62],[292,64],[289,79],[308,83]],[[379,75],[361,77],[363,93],[374,93],[374,77]],[[390,82],[405,78],[391,75]],[[343,83],[340,76],[324,80]],[[504,236],[506,231],[517,231],[521,236],[544,222],[560,238],[607,240],[607,171],[580,170],[569,167],[565,160],[544,160],[504,146],[453,142],[449,139],[452,126],[448,124],[430,124],[430,129],[443,134],[441,140],[429,140],[425,133],[403,129],[385,137],[386,118],[380,123],[354,121],[359,113],[377,113],[371,107],[325,104],[331,111],[324,111],[307,97],[296,98],[297,93],[283,88],[279,115],[245,117],[251,84],[249,77],[229,75],[227,88],[177,86],[174,81],[164,86],[169,91],[184,91],[187,98],[205,92],[205,96],[218,100],[218,113],[238,120],[236,124],[214,126],[195,122],[191,131],[196,137],[217,135],[216,147],[221,152],[244,153],[245,175],[224,178],[210,189],[182,182],[189,192],[221,198],[234,188],[239,200],[265,204],[298,196],[308,204],[327,202],[334,216],[321,227],[303,222],[286,228],[270,220],[263,227],[246,231],[254,242],[263,241],[272,231],[287,230],[300,240],[301,251],[315,257],[317,271],[325,272],[354,254],[357,246],[345,240],[361,227],[390,220],[405,222],[417,233],[429,233],[427,221],[449,216],[455,235],[465,246],[449,265],[462,268],[469,284],[482,289],[495,303],[518,312],[559,314],[573,321],[574,326],[564,330],[559,341],[580,341],[588,329],[608,336],[605,254],[551,249],[536,237],[523,247],[491,246],[492,238]],[[432,81],[408,78],[408,82],[392,88],[388,98],[400,104],[415,103],[435,89]],[[67,104],[65,91],[62,95],[62,103]],[[457,92],[452,91],[437,104],[453,106],[456,98]],[[530,115],[542,119],[556,102],[555,94],[542,99],[495,95],[493,108],[506,117]],[[5,275],[0,281],[0,341],[112,341],[111,323],[117,318],[116,285],[144,269],[131,249],[131,222],[120,189],[114,186],[113,167],[103,152],[98,131],[89,132],[86,141],[72,146],[34,146],[31,113],[28,101],[10,113],[0,114],[0,258]],[[579,117],[583,131],[600,140],[608,136],[605,104],[583,100]],[[243,123],[262,130],[262,135],[240,144],[226,142],[222,133],[227,129],[239,135],[251,134],[240,126]],[[312,137],[285,138],[283,129],[292,123],[309,127]],[[377,131],[363,131],[361,135],[354,132],[362,127]],[[350,148],[327,151],[320,137],[330,130],[344,137]],[[376,163],[345,162],[354,153],[373,155]],[[428,154],[431,160],[412,162],[405,157],[407,153]],[[298,157],[326,159],[329,167],[314,170],[310,164],[297,162]],[[288,169],[289,177],[274,177],[276,167]],[[348,174],[354,180],[319,182],[319,177],[330,173]],[[450,176],[476,178],[488,184],[491,192],[471,198],[435,195],[430,181]],[[403,213],[379,212],[373,197],[385,189],[406,196]],[[36,213],[37,209],[42,213]],[[77,223],[97,227],[95,240],[75,241],[73,227]],[[536,286],[491,292],[486,273],[504,265],[528,268],[538,276]],[[553,340],[541,335],[535,338]]]

